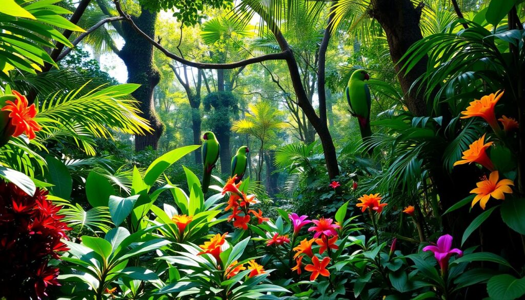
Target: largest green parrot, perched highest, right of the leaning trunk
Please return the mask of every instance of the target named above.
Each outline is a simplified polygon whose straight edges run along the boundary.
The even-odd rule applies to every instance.
[[[364,80],[369,80],[366,70],[355,70],[346,87],[346,100],[350,105],[350,113],[359,120],[361,137],[364,139],[372,135],[370,129],[370,89]]]

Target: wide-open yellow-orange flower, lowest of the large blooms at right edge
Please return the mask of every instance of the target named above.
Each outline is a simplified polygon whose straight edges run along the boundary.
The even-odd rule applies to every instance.
[[[509,185],[514,185],[514,182],[510,179],[502,179],[500,181],[498,181],[498,179],[499,173],[498,171],[494,171],[490,173],[489,179],[485,177],[482,181],[476,183],[477,188],[470,191],[471,193],[477,194],[474,200],[472,200],[472,207],[479,201],[479,206],[485,209],[485,205],[491,196],[494,199],[505,200],[505,193],[512,193]]]

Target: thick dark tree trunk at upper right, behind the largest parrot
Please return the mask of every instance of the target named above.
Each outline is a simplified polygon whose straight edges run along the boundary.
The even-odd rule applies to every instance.
[[[414,7],[411,0],[373,0],[372,5],[370,14],[385,31],[390,56],[405,94],[405,104],[414,115],[425,116],[428,109],[424,92],[418,93],[417,85],[411,90],[411,86],[426,72],[428,58],[425,56],[420,59],[408,74],[401,70],[403,63],[399,63],[408,48],[423,38],[419,20],[424,4],[421,2]]]

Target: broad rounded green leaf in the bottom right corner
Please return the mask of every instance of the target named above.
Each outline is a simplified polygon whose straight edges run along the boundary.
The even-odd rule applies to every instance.
[[[487,292],[492,299],[518,299],[525,295],[525,277],[518,279],[509,274],[494,276],[487,283]]]

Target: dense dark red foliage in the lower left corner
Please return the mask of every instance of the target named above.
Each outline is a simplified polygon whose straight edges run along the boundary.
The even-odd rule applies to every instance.
[[[49,285],[59,285],[58,269],[50,258],[67,251],[67,224],[60,207],[47,200],[47,191],[27,195],[13,183],[0,180],[0,298],[41,299]]]

